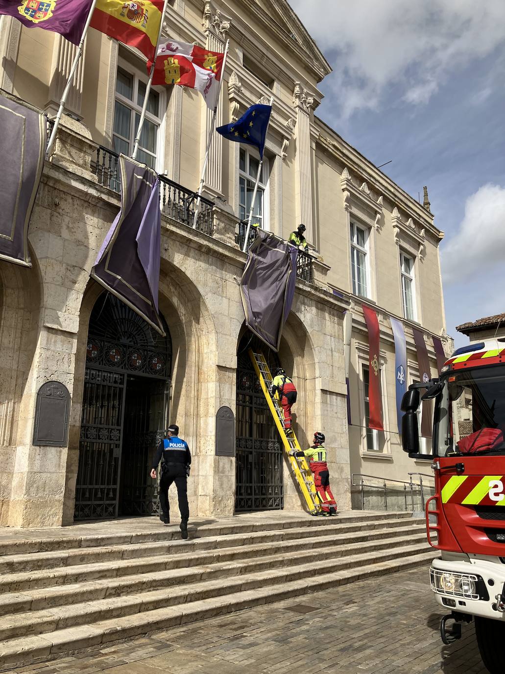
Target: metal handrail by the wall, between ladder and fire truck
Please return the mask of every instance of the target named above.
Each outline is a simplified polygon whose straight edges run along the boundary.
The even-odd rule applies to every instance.
[[[413,476],[417,476],[419,481],[413,481]],[[375,503],[383,501],[383,510],[396,512],[399,510],[424,511],[428,500],[427,496],[432,496],[435,489],[434,484],[426,484],[426,479],[434,482],[435,478],[433,475],[422,472],[409,472],[409,478],[409,482],[405,482],[404,480],[392,480],[388,477],[376,477],[375,475],[354,472],[351,475],[351,485],[360,488],[362,510],[365,510],[365,500],[368,497],[373,505],[367,510],[380,510]],[[355,481],[355,479],[358,481]],[[370,484],[370,481],[374,483]],[[367,490],[367,493],[365,493],[365,490]]]

